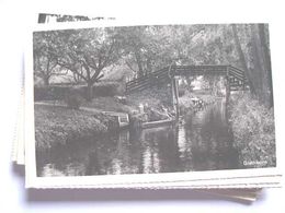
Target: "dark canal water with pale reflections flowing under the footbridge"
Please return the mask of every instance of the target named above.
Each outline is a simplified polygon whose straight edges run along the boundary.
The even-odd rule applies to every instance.
[[[225,102],[179,126],[121,131],[36,153],[37,176],[152,174],[240,168]]]

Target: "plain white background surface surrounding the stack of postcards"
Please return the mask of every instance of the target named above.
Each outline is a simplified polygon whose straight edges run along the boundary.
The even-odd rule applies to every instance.
[[[117,20],[192,23],[270,23],[278,146],[284,147],[285,7],[282,1],[13,1],[0,0],[1,212],[284,212],[284,189],[269,189],[251,205],[190,190],[26,190],[23,168],[10,163],[27,28],[35,12],[114,16]],[[284,163],[281,155],[278,159]],[[283,164],[284,165],[284,164]]]

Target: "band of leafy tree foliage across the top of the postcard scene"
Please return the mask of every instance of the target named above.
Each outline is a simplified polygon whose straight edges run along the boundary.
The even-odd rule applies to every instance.
[[[233,64],[244,70],[251,93],[273,105],[269,28],[265,24],[128,26],[39,32],[34,35],[35,73],[48,85],[64,70],[86,82],[88,96],[104,70],[136,76],[176,64]],[[118,62],[119,61],[119,62]],[[190,78],[191,82],[193,78]],[[208,82],[215,78],[205,76]]]

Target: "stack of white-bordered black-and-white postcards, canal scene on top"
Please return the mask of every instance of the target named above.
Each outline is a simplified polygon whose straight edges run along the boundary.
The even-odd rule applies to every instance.
[[[263,23],[39,14],[12,153],[26,188],[253,201],[281,187],[269,35]]]

